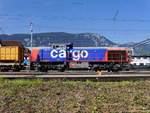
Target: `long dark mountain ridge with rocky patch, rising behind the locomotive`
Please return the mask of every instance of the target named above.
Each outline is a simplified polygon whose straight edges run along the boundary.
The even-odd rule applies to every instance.
[[[21,41],[24,46],[30,46],[29,34],[0,35],[1,40]],[[114,42],[95,33],[70,34],[64,32],[35,33],[33,46],[49,46],[50,43],[70,43],[76,47],[113,46]]]

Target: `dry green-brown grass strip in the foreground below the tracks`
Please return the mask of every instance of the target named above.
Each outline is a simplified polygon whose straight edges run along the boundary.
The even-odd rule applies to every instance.
[[[150,81],[0,79],[1,112],[149,112]]]

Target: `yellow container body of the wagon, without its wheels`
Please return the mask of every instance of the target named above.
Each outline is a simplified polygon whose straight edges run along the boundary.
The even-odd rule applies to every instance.
[[[0,47],[0,62],[22,62],[24,59],[24,48],[19,46]]]

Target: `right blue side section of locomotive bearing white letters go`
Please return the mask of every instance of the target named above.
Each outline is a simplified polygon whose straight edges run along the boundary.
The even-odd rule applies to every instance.
[[[69,59],[71,61],[103,61],[106,49],[72,49]]]

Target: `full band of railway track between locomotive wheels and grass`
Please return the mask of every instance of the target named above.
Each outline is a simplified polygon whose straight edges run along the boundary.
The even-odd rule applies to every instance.
[[[94,80],[94,81],[124,81],[124,80],[150,80],[150,71],[130,71],[108,73],[102,75],[96,72],[68,71],[68,72],[0,72],[0,78],[6,79],[63,79],[63,80]]]

